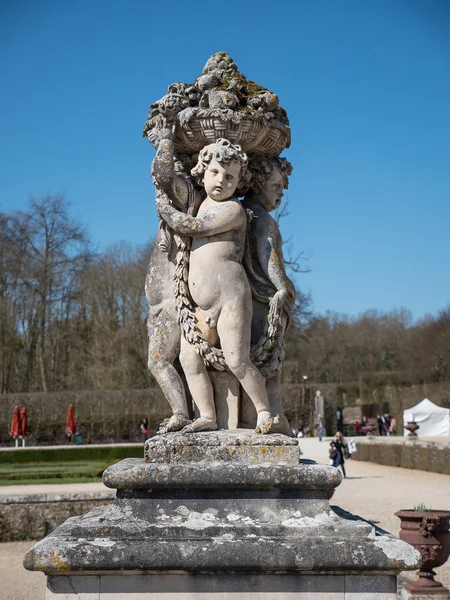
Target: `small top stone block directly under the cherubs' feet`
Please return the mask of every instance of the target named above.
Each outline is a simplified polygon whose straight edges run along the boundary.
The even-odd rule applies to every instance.
[[[185,464],[223,461],[246,463],[284,463],[298,465],[298,441],[281,434],[258,435],[252,430],[168,433],[145,443],[145,461]]]

